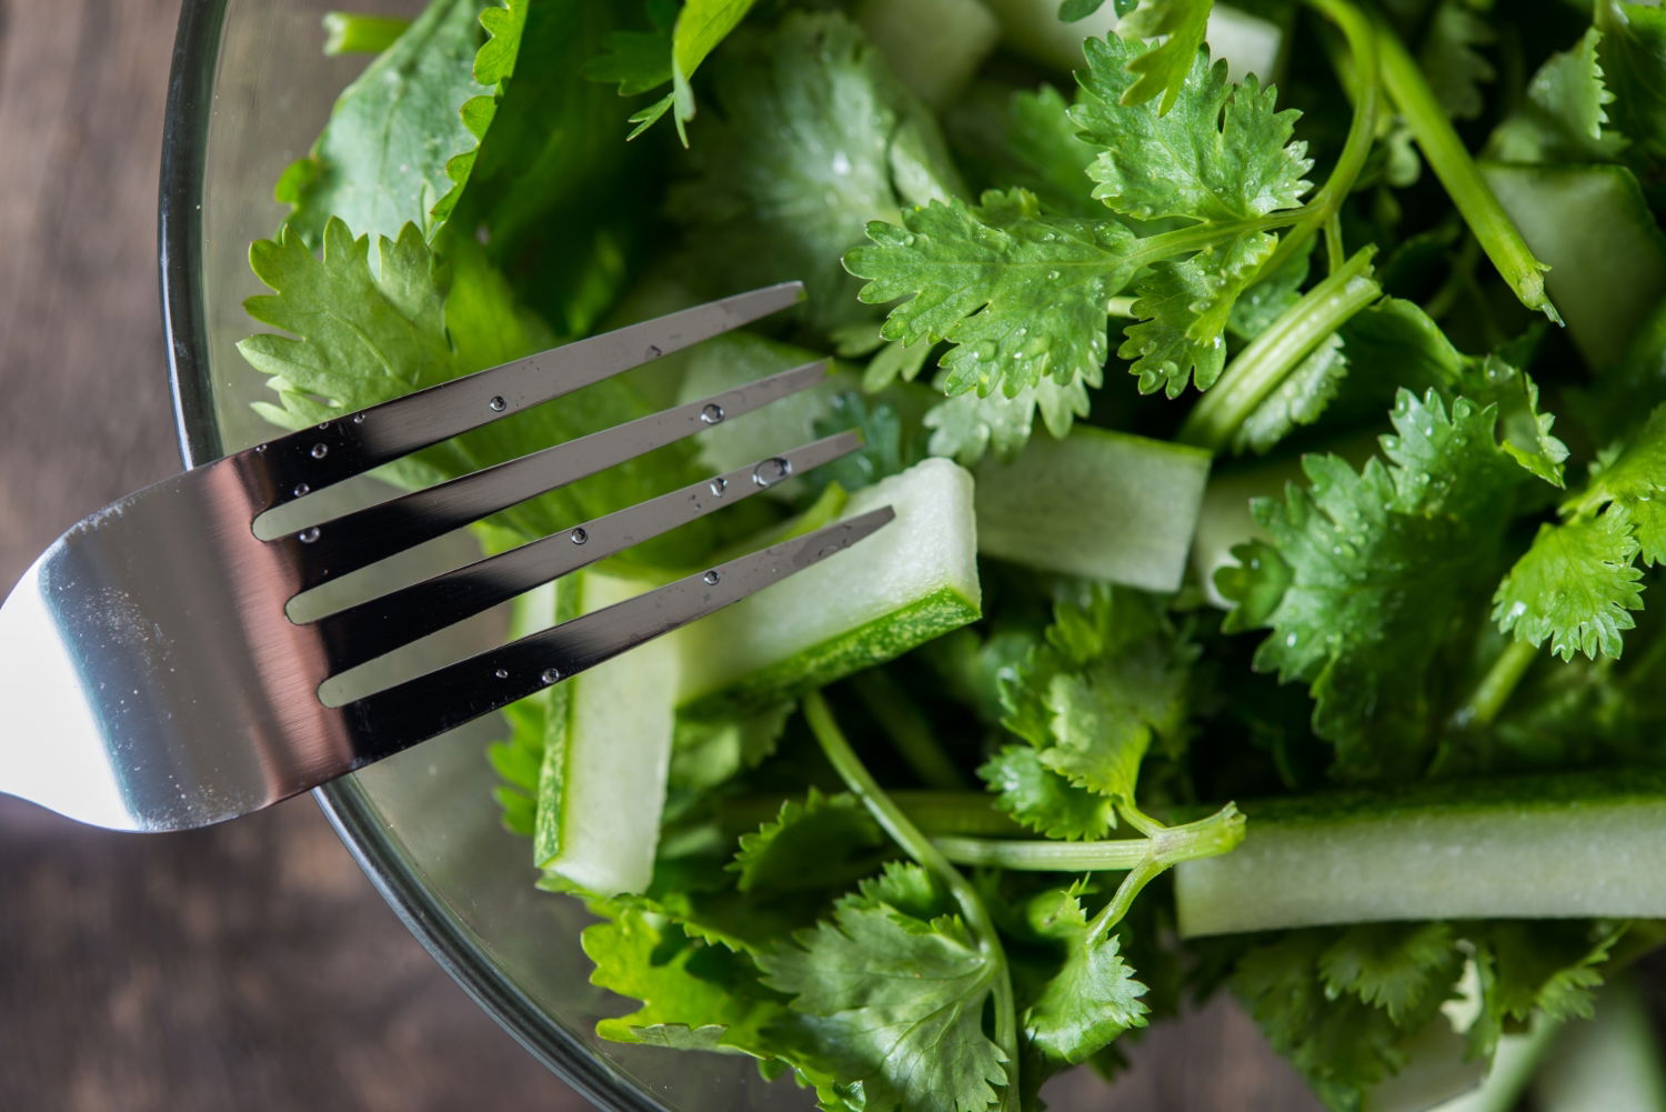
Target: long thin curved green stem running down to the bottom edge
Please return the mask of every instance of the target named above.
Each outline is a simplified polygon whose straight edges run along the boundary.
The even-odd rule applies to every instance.
[[[856,750],[850,747],[843,730],[838,729],[833,710],[828,707],[826,699],[821,697],[821,692],[805,695],[805,720],[810,724],[810,732],[815,734],[816,744],[821,745],[828,764],[845,780],[850,794],[861,800],[875,822],[891,835],[891,840],[905,854],[948,889],[960,907],[960,914],[966,919],[966,927],[978,939],[978,949],[988,959],[991,972],[990,994],[995,1000],[995,1044],[1006,1055],[1006,1085],[1001,1090],[1001,1109],[1003,1112],[1016,1112],[1020,1104],[1018,1005],[1013,995],[1013,977],[1006,964],[1006,950],[1001,949],[1001,939],[995,930],[995,920],[990,919],[990,910],[983,905],[983,899],[971,887],[971,882],[950,864],[948,857],[931,844],[931,839],[920,832],[920,827],[903,814],[896,800],[885,794],[885,789],[873,779],[868,767],[861,764]]]

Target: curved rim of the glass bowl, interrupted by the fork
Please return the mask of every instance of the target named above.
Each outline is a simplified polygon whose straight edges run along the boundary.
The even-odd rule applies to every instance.
[[[225,455],[215,420],[208,328],[202,303],[202,207],[208,123],[228,0],[183,0],[173,40],[162,132],[157,247],[168,387],[185,467]],[[353,860],[440,967],[521,1047],[581,1097],[608,1112],[668,1112],[610,1072],[586,1047],[476,957],[478,947],[383,832],[377,809],[352,777],[313,792]]]

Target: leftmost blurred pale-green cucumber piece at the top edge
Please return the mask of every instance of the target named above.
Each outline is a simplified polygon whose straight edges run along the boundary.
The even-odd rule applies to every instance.
[[[861,0],[856,23],[903,85],[933,108],[966,88],[1001,38],[981,0]]]

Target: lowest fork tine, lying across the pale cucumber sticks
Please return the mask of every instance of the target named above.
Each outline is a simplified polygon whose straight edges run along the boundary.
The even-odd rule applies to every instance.
[[[891,507],[881,507],[835,522],[347,704],[342,712],[360,740],[362,764],[410,749],[740,602],[848,548],[893,517]]]

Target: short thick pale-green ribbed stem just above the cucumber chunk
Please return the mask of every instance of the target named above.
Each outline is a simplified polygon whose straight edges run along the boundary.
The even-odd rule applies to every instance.
[[[1238,433],[1273,390],[1349,317],[1383,292],[1368,277],[1374,247],[1363,247],[1279,313],[1261,335],[1231,362],[1221,380],[1186,415],[1176,437],[1220,452]]]

